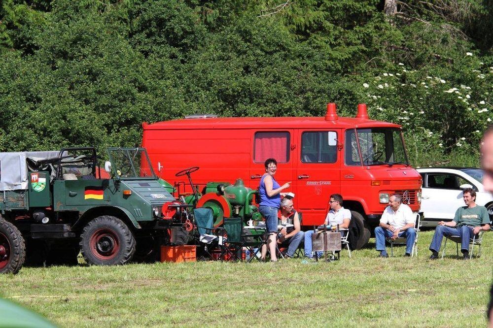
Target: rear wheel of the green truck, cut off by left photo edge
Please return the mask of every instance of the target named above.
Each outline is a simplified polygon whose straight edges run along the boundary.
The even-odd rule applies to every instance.
[[[26,258],[21,232],[0,216],[0,273],[17,273]]]

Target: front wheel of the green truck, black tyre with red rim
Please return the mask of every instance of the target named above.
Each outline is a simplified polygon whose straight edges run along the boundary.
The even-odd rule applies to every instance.
[[[134,256],[135,238],[122,220],[104,215],[90,221],[82,230],[80,251],[89,264],[125,264]]]

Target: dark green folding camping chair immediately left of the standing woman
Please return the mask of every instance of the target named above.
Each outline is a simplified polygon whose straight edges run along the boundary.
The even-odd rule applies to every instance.
[[[266,234],[242,234],[242,218],[225,218],[223,229],[225,238],[221,246],[221,260],[225,260],[228,255],[232,260],[242,260],[243,248],[246,248],[251,254],[247,262],[251,262],[254,258],[260,261],[257,253],[262,245],[267,242],[267,240],[264,240]]]

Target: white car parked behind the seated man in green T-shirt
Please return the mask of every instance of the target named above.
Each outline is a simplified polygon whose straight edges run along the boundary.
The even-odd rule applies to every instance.
[[[476,191],[476,204],[486,206],[493,219],[493,196],[483,187],[483,170],[472,167],[418,168],[423,177],[421,211],[423,227],[436,227],[439,221],[452,221],[456,210],[465,206],[462,190]]]

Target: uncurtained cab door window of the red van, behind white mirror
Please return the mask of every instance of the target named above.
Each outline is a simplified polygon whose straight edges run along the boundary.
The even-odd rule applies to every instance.
[[[302,163],[335,163],[336,161],[337,145],[329,145],[328,131],[303,132],[301,135]]]

